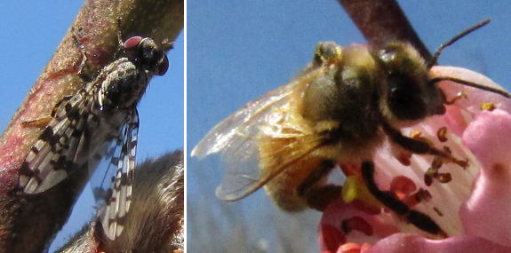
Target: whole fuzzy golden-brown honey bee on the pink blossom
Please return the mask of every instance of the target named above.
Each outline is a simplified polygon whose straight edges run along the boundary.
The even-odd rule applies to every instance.
[[[270,199],[287,211],[323,210],[342,190],[325,184],[326,176],[336,164],[361,164],[363,182],[379,202],[419,229],[444,235],[431,217],[379,190],[373,155],[387,138],[414,154],[453,160],[451,154],[399,130],[445,113],[448,101],[437,86],[440,81],[511,97],[482,84],[429,75],[444,47],[489,21],[441,45],[429,62],[406,42],[346,47],[318,43],[313,61],[296,79],[228,116],[191,155],[202,159],[220,152],[226,164],[216,191],[220,199],[237,201],[264,186]]]

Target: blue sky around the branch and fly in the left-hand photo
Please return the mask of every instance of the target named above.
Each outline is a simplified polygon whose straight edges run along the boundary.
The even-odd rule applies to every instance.
[[[50,3],[50,4],[49,4]],[[52,57],[84,1],[0,3],[0,127],[4,128]],[[181,34],[168,54],[166,75],[156,76],[139,105],[138,160],[173,151],[184,145],[184,39]],[[84,189],[68,225],[57,235],[56,244],[92,217],[92,190]],[[54,243],[54,244],[55,244]],[[55,248],[52,247],[52,252]]]

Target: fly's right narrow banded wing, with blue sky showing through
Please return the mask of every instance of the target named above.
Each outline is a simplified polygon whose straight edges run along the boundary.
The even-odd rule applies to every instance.
[[[108,170],[115,169],[113,171],[116,174],[111,180],[103,182],[103,185],[108,184],[110,187],[105,195],[100,196],[106,202],[100,210],[100,221],[110,240],[116,240],[123,233],[132,203],[133,170],[139,133],[139,115],[136,108],[126,116],[119,133],[120,135],[114,138],[106,157],[109,160]]]

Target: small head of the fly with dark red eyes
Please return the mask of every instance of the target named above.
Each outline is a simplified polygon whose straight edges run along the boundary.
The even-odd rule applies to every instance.
[[[169,67],[165,51],[172,48],[172,43],[164,40],[156,44],[150,37],[132,36],[124,42],[124,56],[142,67],[146,73],[164,75]]]

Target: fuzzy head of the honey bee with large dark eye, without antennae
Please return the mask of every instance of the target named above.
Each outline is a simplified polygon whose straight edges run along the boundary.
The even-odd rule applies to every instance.
[[[403,125],[443,114],[443,91],[429,82],[427,64],[410,43],[386,43],[371,55],[383,71],[379,107],[388,123]]]

